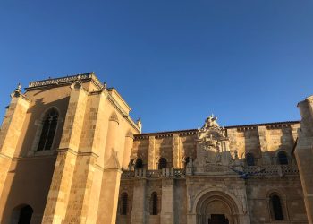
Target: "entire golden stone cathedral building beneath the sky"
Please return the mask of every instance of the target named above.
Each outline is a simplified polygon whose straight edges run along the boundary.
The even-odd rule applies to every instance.
[[[300,121],[211,115],[141,134],[95,73],[19,84],[0,132],[0,223],[313,223],[313,96],[298,108]]]

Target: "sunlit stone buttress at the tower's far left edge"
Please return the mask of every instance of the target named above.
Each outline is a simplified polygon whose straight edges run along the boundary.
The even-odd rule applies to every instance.
[[[15,90],[0,131],[0,196],[29,107],[30,99],[22,96],[20,90]]]

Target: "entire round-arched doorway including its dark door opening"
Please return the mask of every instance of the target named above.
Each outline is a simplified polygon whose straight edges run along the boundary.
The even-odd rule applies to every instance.
[[[197,224],[240,224],[239,209],[232,196],[212,191],[200,196],[196,205]]]

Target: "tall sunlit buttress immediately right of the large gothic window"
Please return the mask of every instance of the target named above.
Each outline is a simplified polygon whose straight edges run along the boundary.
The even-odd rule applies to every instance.
[[[68,207],[88,97],[88,92],[82,89],[80,82],[73,83],[71,87],[69,107],[42,223],[63,223]]]

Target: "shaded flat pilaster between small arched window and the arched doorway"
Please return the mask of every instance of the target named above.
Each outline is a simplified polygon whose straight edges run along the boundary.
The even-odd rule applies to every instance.
[[[174,180],[173,178],[162,179],[162,209],[161,209],[161,223],[174,223]]]

